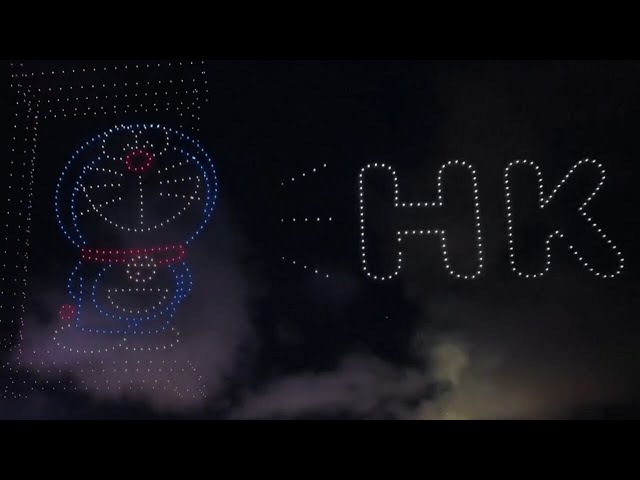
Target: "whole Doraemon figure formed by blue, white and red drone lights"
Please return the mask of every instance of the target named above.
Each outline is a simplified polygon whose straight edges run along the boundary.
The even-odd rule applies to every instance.
[[[213,162],[181,132],[120,125],[84,143],[55,192],[60,228],[78,249],[56,343],[87,354],[171,350],[192,288],[188,247],[217,193]],[[89,348],[78,348],[80,332]]]

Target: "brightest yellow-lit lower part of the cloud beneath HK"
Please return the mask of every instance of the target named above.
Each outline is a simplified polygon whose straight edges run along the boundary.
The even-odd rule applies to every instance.
[[[615,404],[625,393],[623,385],[584,365],[551,365],[540,357],[496,361],[494,349],[475,350],[465,354],[468,363],[457,371],[457,384],[437,400],[424,402],[413,418],[566,418],[586,407]]]

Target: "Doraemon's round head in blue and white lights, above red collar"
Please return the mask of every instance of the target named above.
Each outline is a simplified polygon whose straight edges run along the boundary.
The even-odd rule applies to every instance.
[[[199,144],[158,125],[120,126],[88,142],[61,184],[71,207],[66,220],[58,215],[63,229],[74,243],[90,246],[101,245],[99,232],[139,245],[188,243],[217,195],[213,164]]]

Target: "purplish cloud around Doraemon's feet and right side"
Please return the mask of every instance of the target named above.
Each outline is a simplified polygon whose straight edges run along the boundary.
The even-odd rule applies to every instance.
[[[202,408],[206,398],[225,392],[238,363],[256,346],[252,279],[242,263],[246,248],[229,217],[217,211],[208,234],[188,249],[194,290],[175,318],[179,337],[163,334],[124,341],[68,328],[54,339],[60,324],[42,324],[31,317],[22,333],[20,368],[37,374],[36,390],[45,382],[65,385],[63,377],[70,374],[66,390],[86,390],[98,399],[126,397],[160,410]],[[59,286],[39,296],[55,318],[65,299]],[[117,345],[122,347],[114,349]],[[17,362],[14,357],[14,367]]]

